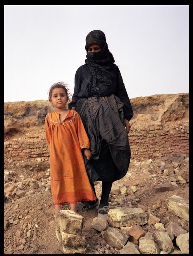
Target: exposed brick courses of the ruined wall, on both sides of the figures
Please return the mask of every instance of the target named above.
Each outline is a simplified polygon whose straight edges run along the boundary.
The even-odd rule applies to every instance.
[[[5,158],[48,157],[44,128],[34,136],[9,139],[4,143]],[[135,126],[129,133],[132,158],[143,160],[172,154],[189,154],[189,122],[163,122]]]

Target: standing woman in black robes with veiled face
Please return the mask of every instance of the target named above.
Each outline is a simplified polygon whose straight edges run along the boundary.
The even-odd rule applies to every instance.
[[[93,183],[102,181],[98,217],[106,219],[112,183],[124,177],[130,163],[128,133],[133,110],[105,34],[101,30],[91,31],[85,49],[85,64],[76,71],[69,109],[80,114],[89,137],[92,157],[89,162],[85,158],[85,165],[94,192]],[[77,210],[97,205],[98,199],[82,202]]]

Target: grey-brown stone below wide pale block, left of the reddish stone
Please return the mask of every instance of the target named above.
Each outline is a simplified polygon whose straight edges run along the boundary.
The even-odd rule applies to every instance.
[[[105,241],[112,247],[121,249],[126,244],[129,235],[123,234],[118,228],[109,227],[104,233]]]

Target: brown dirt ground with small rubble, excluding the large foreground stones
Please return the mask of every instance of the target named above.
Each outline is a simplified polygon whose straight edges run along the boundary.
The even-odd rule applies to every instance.
[[[4,163],[4,254],[63,254],[55,233],[49,158],[9,158]],[[156,190],[156,186],[165,183],[172,185]],[[95,190],[100,199],[100,181],[95,182]],[[189,200],[187,154],[141,162],[132,158],[126,175],[113,183],[109,207],[138,207],[158,217],[165,230],[172,221],[189,232],[189,222],[167,209],[165,200],[173,195]],[[69,209],[69,205],[64,204],[62,209]],[[87,244],[84,254],[105,254],[105,251],[120,254],[91,227],[98,215],[97,209],[78,213],[84,217],[82,233]],[[142,228],[145,232],[156,232],[152,224]]]

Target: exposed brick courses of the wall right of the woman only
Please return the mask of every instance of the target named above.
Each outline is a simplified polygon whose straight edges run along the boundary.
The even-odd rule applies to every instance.
[[[131,130],[129,141],[136,160],[189,154],[189,122],[142,125]]]

